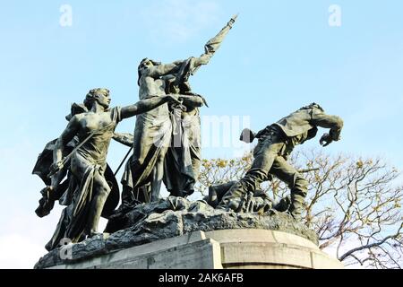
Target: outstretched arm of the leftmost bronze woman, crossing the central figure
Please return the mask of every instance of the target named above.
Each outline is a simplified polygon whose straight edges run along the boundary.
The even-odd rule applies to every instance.
[[[150,98],[147,100],[140,100],[134,105],[122,108],[121,110],[122,119],[148,112],[151,109],[156,109],[167,102],[175,102],[177,104],[180,104],[175,95],[166,95],[162,97]]]

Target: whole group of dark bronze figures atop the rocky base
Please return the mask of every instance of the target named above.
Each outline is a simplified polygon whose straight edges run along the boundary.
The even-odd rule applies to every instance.
[[[33,170],[47,185],[36,210],[39,217],[49,214],[56,200],[66,206],[47,250],[57,248],[62,239],[80,242],[99,234],[101,216],[109,218],[137,204],[158,201],[162,183],[170,196],[193,194],[201,168],[199,108],[207,106],[207,102],[192,91],[189,78],[210,62],[235,20],[233,17],[210,39],[201,57],[167,65],[143,59],[138,68],[140,101],[132,106],[110,108],[107,89],[91,90],[81,104],[72,105],[63,134],[47,143]],[[116,134],[117,124],[133,116],[137,116],[134,134]],[[330,129],[322,136],[322,145],[338,141],[342,126],[339,117],[327,115],[313,103],[257,134],[244,130],[241,140],[259,140],[252,168],[238,182],[210,187],[208,204],[244,212],[244,197],[275,176],[291,190],[285,212],[301,220],[308,182],[287,162],[287,157],[297,144],[312,139],[318,127]],[[130,152],[133,151],[121,180],[122,196],[116,172],[107,165],[111,139],[131,146]],[[122,204],[116,210],[120,198]]]

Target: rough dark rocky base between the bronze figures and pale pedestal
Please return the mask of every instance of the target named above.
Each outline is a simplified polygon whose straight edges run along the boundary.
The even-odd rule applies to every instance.
[[[199,231],[213,234],[219,232],[217,230],[226,232],[239,230],[246,233],[248,230],[270,230],[267,231],[271,232],[270,234],[287,233],[295,238],[294,241],[302,239],[305,245],[316,247],[319,252],[315,232],[303,223],[296,222],[287,213],[274,210],[264,214],[233,213],[215,210],[203,201],[189,202],[181,197],[168,197],[159,202],[138,205],[127,213],[116,215],[107,225],[106,231],[111,233],[109,236],[98,236],[57,248],[40,258],[35,268],[77,265],[93,258],[110,256],[158,240],[186,237]]]

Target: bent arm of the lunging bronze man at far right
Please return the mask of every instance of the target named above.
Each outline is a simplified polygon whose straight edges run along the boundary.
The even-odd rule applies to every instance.
[[[330,128],[329,134],[325,134],[321,138],[320,142],[323,146],[327,146],[333,141],[339,141],[341,129],[343,128],[341,117],[326,115],[321,109],[313,109],[312,124]]]

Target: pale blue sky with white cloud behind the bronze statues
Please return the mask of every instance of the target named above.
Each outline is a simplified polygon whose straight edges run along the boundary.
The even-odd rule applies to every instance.
[[[59,23],[62,4],[73,8],[71,27]],[[340,27],[328,23],[331,4],[341,8]],[[110,89],[113,105],[134,103],[141,58],[200,56],[234,13],[234,29],[191,80],[209,102],[203,116],[249,116],[257,130],[315,101],[345,121],[330,152],[381,156],[403,170],[402,11],[399,0],[2,0],[0,267],[29,268],[45,253],[60,209],[36,217],[43,185],[30,172],[70,104],[95,87]],[[133,126],[129,119],[118,131]],[[111,145],[114,169],[126,151]],[[205,158],[234,154],[203,150]]]

